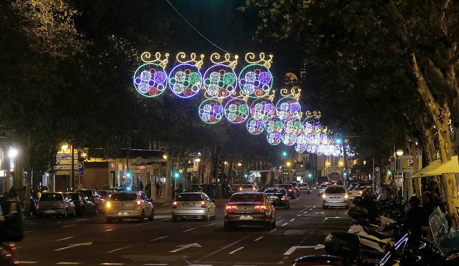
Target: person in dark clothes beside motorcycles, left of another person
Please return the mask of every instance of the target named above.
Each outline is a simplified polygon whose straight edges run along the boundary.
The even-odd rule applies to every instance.
[[[421,227],[428,226],[428,223],[425,222],[425,209],[420,206],[421,200],[416,196],[412,196],[408,201],[408,211],[406,213],[406,219],[401,229],[401,232],[404,234],[406,232],[411,232],[412,239],[422,238]]]

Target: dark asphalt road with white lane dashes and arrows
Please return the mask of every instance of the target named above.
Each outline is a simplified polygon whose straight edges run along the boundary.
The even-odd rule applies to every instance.
[[[155,220],[107,224],[104,214],[31,219],[26,238],[17,243],[23,264],[272,266],[291,265],[304,255],[322,255],[330,231],[346,231],[347,211],[322,210],[317,191],[276,211],[277,228],[239,227],[223,230],[223,208],[217,219],[171,221],[171,203],[155,202]],[[297,247],[300,246],[300,247]],[[297,248],[295,248],[297,247]]]

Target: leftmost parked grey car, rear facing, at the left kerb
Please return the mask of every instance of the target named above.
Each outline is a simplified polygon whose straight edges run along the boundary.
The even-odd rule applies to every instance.
[[[37,218],[43,216],[75,216],[75,205],[67,193],[45,192],[42,193],[37,205]]]

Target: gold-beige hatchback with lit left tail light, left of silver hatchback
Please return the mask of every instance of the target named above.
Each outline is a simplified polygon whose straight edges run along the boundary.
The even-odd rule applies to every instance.
[[[138,219],[144,222],[153,221],[155,210],[150,200],[142,191],[115,192],[106,203],[106,221],[111,223],[113,219],[123,222],[123,219]]]

